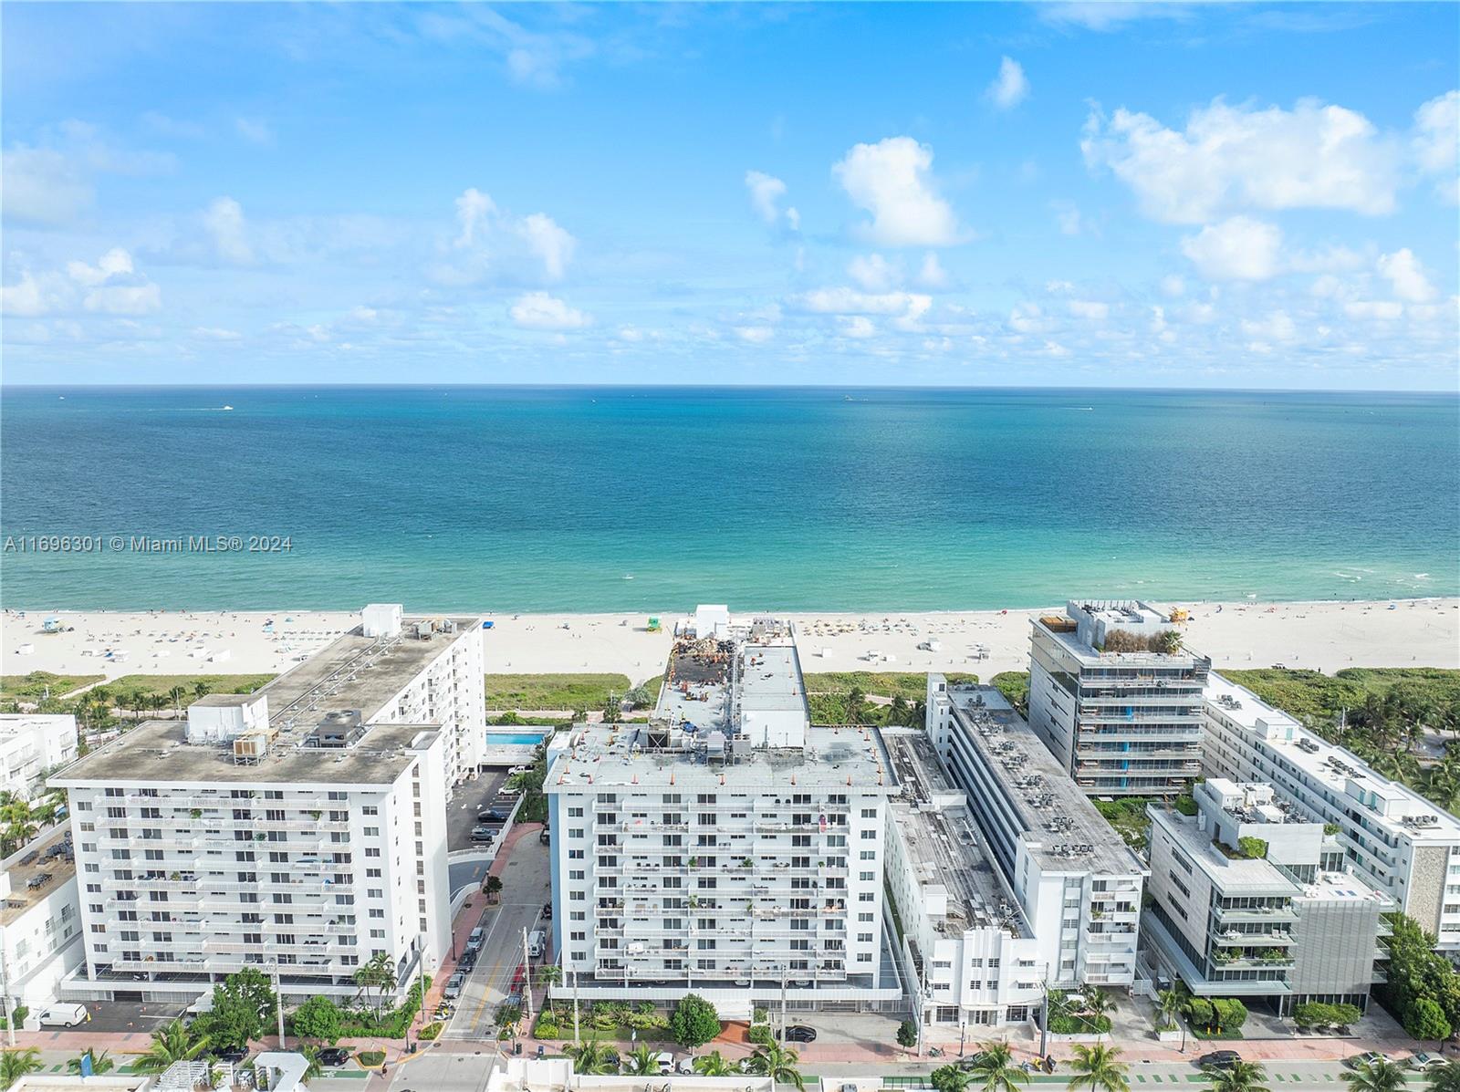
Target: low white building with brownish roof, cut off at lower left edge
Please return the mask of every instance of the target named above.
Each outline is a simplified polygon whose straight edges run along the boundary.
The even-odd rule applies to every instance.
[[[0,1010],[39,1015],[83,955],[69,828],[51,828],[4,861],[0,873]]]

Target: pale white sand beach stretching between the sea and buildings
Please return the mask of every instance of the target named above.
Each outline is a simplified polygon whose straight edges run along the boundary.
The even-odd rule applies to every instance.
[[[1460,599],[1162,606],[1191,612],[1187,645],[1216,666],[1460,667]],[[988,679],[1026,669],[1029,619],[1051,609],[790,616],[806,672],[949,670]],[[670,629],[689,610],[660,612],[657,634],[647,631],[648,613],[483,615],[493,622],[485,634],[488,672],[616,672],[641,682],[663,670]],[[63,632],[44,632],[53,618]],[[356,613],[317,610],[4,612],[0,673],[283,672],[358,622]]]

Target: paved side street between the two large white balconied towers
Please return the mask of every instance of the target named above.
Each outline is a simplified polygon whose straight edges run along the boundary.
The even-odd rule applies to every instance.
[[[536,838],[518,839],[499,874],[502,899],[483,910],[486,942],[442,1038],[488,1039],[486,1045],[492,1045],[496,1007],[507,999],[512,974],[523,962],[523,930],[537,926],[543,902],[552,896],[548,847]]]

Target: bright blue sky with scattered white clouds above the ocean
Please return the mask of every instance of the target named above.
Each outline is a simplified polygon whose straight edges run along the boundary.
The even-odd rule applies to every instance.
[[[7,3],[3,380],[1456,390],[1454,4]]]

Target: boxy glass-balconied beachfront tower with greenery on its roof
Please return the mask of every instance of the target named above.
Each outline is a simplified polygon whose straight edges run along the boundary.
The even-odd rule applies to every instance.
[[[1161,647],[1171,620],[1136,600],[1070,601],[1034,619],[1029,724],[1089,796],[1175,796],[1202,772],[1212,661]]]

